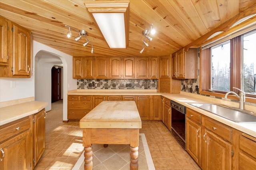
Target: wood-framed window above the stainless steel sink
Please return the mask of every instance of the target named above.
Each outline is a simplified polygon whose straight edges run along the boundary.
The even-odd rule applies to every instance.
[[[228,91],[239,93],[232,88],[237,87],[256,99],[256,30],[209,45],[201,51],[200,65],[200,93],[224,97]]]

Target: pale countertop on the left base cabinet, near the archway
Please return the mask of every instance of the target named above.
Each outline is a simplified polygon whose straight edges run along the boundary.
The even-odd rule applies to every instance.
[[[23,117],[38,113],[48,105],[47,102],[29,101],[0,108],[0,125],[16,121]]]

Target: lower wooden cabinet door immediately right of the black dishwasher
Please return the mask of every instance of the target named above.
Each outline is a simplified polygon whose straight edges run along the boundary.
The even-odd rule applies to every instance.
[[[186,118],[186,151],[201,166],[202,127]]]

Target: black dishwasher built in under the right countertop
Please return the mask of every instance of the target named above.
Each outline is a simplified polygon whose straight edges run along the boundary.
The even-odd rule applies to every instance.
[[[171,133],[186,150],[186,107],[172,100],[170,105],[172,107]]]

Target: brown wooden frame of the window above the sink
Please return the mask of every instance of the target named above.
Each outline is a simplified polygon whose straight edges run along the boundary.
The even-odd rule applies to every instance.
[[[247,32],[248,33],[248,32]],[[245,33],[245,34],[247,34]],[[242,81],[242,49],[243,49],[243,35],[236,36],[230,39],[230,91],[240,93],[238,90],[232,87],[237,87],[241,89]],[[220,42],[221,43],[221,42]],[[202,50],[200,47],[200,91],[199,93],[204,95],[212,95],[215,97],[222,97],[227,93],[227,91],[211,91],[211,47]],[[234,95],[228,95],[229,99],[238,100]],[[246,93],[246,102],[256,103],[256,95]]]

